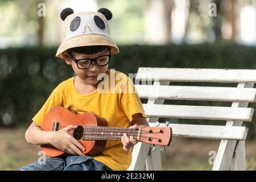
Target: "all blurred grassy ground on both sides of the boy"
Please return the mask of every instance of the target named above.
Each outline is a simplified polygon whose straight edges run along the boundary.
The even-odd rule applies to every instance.
[[[39,146],[27,144],[26,129],[0,128],[0,170],[18,170],[39,158]],[[218,150],[219,140],[173,138],[162,153],[163,170],[211,170],[209,151]],[[256,170],[255,140],[246,141],[246,169]]]

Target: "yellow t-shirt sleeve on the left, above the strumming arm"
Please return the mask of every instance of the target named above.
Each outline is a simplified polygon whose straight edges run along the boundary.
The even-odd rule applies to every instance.
[[[48,113],[49,110],[57,106],[63,106],[61,90],[58,86],[52,91],[51,95],[48,97],[43,107],[38,111],[34,118],[32,118],[32,121],[41,126],[44,116]]]

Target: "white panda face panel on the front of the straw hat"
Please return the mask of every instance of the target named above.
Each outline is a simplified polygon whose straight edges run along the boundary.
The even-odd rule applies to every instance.
[[[72,19],[67,30],[67,39],[85,34],[101,34],[109,37],[108,27],[97,14],[82,14]]]

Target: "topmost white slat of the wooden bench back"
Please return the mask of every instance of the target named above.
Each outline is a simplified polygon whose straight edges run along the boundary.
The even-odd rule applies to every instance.
[[[256,82],[255,69],[139,68],[137,80],[188,82]]]

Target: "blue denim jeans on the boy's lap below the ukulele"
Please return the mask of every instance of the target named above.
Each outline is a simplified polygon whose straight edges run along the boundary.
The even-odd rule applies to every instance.
[[[112,171],[105,164],[90,156],[70,155],[66,159],[47,158],[45,164],[29,164],[19,171]]]

